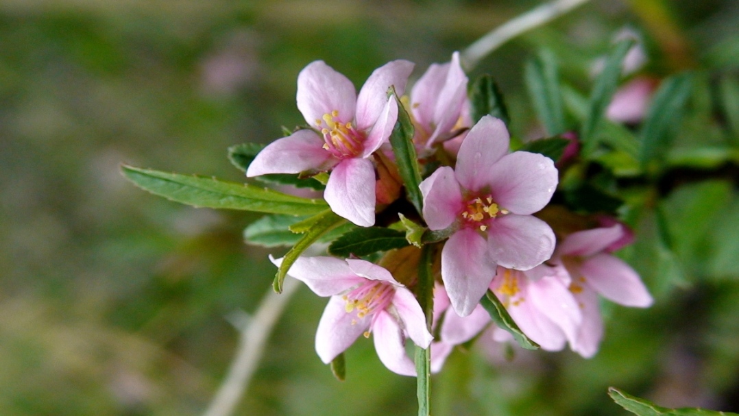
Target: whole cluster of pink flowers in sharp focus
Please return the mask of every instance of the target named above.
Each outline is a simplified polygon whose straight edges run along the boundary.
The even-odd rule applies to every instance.
[[[381,267],[382,254],[300,257],[292,264],[289,276],[330,296],[316,334],[319,357],[330,363],[360,335],[372,334],[380,360],[393,372],[415,375],[407,340],[432,349],[437,371],[454,345],[487,327],[497,340],[508,339],[480,304],[492,294],[542,349],[569,344],[592,356],[603,333],[599,296],[630,307],[652,303],[636,272],[612,254],[629,242],[628,229],[615,219],[601,219],[595,228],[584,219],[576,231],[553,229],[537,213],[557,190],[554,160],[511,151],[500,119],[471,119],[468,79],[457,53],[449,63],[429,67],[405,97],[412,69],[408,61],[392,61],[372,72],[357,94],[323,61],[309,64],[297,90],[307,126],[271,143],[247,171],[248,177],[327,172],[324,199],[357,229],[380,223],[398,229],[405,216],[424,235],[437,236],[413,241],[430,245],[432,310],[424,311],[417,300],[418,276],[394,277]],[[408,140],[422,179],[405,192],[389,144],[401,113],[412,123]],[[404,198],[411,191],[420,191],[420,212]],[[418,270],[418,256],[409,258],[415,260],[401,268]],[[274,260],[278,266],[283,261]]]

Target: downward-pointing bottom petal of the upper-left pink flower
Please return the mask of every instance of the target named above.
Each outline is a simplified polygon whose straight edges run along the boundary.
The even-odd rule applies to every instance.
[[[372,184],[372,186],[370,186]],[[375,167],[367,159],[344,159],[326,184],[331,210],[361,227],[375,224]]]

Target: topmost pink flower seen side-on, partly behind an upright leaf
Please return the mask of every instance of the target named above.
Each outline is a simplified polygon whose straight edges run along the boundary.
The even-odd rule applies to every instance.
[[[467,98],[467,76],[459,52],[447,64],[432,64],[411,90],[415,142],[427,148],[451,138]]]

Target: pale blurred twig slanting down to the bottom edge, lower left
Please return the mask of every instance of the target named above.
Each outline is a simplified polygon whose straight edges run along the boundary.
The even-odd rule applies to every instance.
[[[296,279],[285,280],[282,293],[274,293],[270,288],[253,318],[241,317],[241,323],[234,323],[241,332],[239,349],[228,370],[228,376],[221,384],[216,397],[208,406],[203,416],[229,416],[234,412],[236,405],[249,386],[267,338],[282,315],[290,296],[299,287]]]

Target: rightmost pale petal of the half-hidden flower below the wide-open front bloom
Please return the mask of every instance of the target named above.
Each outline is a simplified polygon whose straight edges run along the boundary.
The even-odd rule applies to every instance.
[[[559,279],[545,277],[528,285],[528,299],[575,344],[582,314],[570,290]]]

